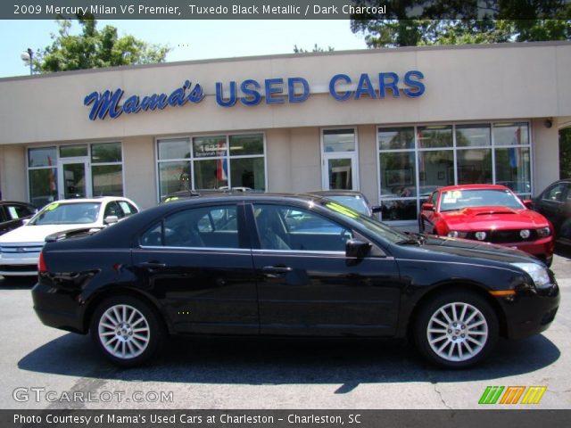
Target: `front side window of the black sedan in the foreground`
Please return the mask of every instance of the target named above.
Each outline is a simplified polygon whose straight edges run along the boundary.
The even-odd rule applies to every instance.
[[[352,231],[313,211],[297,207],[254,205],[263,250],[345,251]]]

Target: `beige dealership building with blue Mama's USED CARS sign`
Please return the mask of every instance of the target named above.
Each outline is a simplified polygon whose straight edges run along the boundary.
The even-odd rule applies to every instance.
[[[359,189],[395,226],[434,188],[559,178],[571,44],[288,54],[0,79],[0,190]]]

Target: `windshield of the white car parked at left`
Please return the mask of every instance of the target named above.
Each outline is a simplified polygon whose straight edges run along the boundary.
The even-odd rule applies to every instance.
[[[29,221],[29,225],[81,225],[95,223],[100,209],[101,202],[53,202],[39,211]]]

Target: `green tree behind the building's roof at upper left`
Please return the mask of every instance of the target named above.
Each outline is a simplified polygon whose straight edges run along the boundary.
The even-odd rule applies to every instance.
[[[117,29],[106,25],[97,29],[93,15],[78,15],[79,35],[71,35],[71,21],[58,20],[58,34],[52,45],[34,54],[37,72],[98,69],[128,64],[164,62],[170,47],[145,43],[127,35],[118,37]]]

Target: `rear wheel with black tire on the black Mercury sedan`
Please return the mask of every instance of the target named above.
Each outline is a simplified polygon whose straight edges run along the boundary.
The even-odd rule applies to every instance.
[[[165,336],[156,312],[131,296],[103,300],[91,318],[90,330],[103,356],[122,367],[139,366],[153,357]]]

